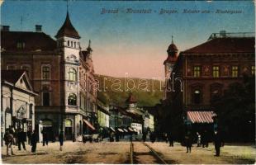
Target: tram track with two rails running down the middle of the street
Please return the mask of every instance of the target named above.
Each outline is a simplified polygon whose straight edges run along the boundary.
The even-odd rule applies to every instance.
[[[131,164],[168,164],[164,158],[159,156],[154,148],[145,142],[130,142],[130,163]]]

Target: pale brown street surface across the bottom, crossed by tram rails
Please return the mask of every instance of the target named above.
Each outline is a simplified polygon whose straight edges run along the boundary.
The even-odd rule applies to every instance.
[[[163,158],[166,163],[254,163],[256,149],[250,145],[225,145],[221,148],[220,157],[215,157],[214,146],[209,148],[192,147],[192,153],[186,153],[186,148],[178,143],[171,148],[163,142],[154,144],[146,142],[150,148]],[[133,142],[133,163],[161,163],[154,157],[152,151],[141,142]],[[6,147],[2,147],[2,163],[131,163],[130,142],[100,142],[80,143],[66,142],[64,150],[59,151],[59,143],[50,143],[43,147],[37,145],[36,153],[13,148],[14,156],[6,156]]]

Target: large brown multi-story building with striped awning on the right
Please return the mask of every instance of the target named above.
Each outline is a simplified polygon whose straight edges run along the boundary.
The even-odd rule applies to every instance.
[[[254,44],[254,34],[221,31],[205,43],[180,52],[173,73],[183,82],[170,81],[174,90],[167,93],[167,99],[183,102],[180,111],[187,123],[213,123],[216,110],[212,102],[231,83],[242,83],[244,74],[255,74]]]

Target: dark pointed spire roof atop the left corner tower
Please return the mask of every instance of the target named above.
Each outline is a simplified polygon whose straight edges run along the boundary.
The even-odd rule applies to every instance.
[[[69,36],[77,39],[81,38],[80,35],[78,35],[78,31],[75,30],[69,19],[69,12],[67,12],[64,24],[60,27],[57,35],[55,35],[56,38],[59,38],[60,36]]]

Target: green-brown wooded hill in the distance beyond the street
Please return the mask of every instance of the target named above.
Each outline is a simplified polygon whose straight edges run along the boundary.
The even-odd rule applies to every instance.
[[[154,79],[114,78],[96,75],[98,81],[97,97],[105,102],[125,106],[126,98],[132,92],[138,106],[154,106],[163,97],[160,90],[164,82]]]

